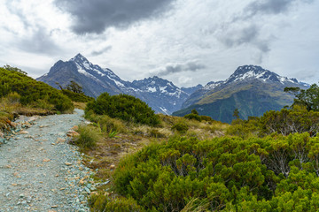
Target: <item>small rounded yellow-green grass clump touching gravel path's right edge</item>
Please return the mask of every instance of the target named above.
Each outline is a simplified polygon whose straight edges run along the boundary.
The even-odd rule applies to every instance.
[[[80,133],[80,136],[74,143],[80,148],[95,148],[97,142],[101,140],[100,133],[92,125],[79,125],[78,133]]]

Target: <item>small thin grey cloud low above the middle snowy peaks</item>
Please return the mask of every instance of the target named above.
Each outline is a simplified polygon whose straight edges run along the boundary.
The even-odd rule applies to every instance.
[[[166,76],[176,72],[197,72],[204,68],[206,68],[206,65],[198,64],[197,62],[188,62],[187,64],[168,64],[164,69],[156,72],[156,74],[159,76]]]

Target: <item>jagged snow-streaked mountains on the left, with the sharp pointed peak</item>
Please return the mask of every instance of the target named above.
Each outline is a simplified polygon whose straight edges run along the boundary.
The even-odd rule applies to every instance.
[[[66,87],[74,80],[83,87],[85,95],[97,97],[103,92],[110,95],[128,94],[140,98],[148,103],[156,112],[171,114],[180,110],[182,103],[198,88],[176,87],[172,82],[152,77],[133,82],[122,80],[110,69],[103,69],[97,64],[92,64],[81,54],[63,62],[59,60],[51,67],[50,72],[37,80],[43,81],[52,87],[57,87],[57,82]]]

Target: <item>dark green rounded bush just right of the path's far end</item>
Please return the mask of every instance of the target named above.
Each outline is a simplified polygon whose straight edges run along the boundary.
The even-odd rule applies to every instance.
[[[131,95],[108,95],[104,93],[96,101],[89,102],[85,111],[93,110],[97,115],[118,117],[125,121],[144,125],[158,125],[159,117],[141,100]]]

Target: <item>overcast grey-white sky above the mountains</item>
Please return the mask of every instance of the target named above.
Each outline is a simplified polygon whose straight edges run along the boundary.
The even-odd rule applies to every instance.
[[[0,66],[34,78],[77,53],[180,87],[261,65],[319,81],[319,0],[0,0]]]

